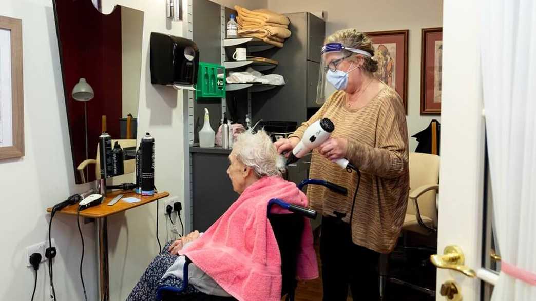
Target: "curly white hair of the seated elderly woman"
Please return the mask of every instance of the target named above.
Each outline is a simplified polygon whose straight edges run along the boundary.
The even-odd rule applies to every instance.
[[[259,177],[278,176],[285,172],[285,159],[277,153],[272,139],[264,130],[241,133],[233,144],[236,159],[252,168]]]

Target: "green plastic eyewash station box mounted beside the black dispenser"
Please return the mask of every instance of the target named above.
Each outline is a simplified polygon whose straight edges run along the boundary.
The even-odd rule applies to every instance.
[[[223,76],[218,78],[218,74],[223,74]],[[225,67],[212,63],[199,62],[196,100],[199,98],[222,97],[225,97]]]

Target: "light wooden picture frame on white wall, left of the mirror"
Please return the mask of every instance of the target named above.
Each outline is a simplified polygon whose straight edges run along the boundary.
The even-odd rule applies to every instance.
[[[0,159],[24,156],[22,25],[0,16]]]

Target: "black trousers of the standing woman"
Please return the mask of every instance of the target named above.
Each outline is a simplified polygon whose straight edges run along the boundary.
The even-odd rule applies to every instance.
[[[354,244],[348,223],[322,217],[320,258],[324,301],[346,300],[348,284],[354,301],[378,300],[379,253]]]

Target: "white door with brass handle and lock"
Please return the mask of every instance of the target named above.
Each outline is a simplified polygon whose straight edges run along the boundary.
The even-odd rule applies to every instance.
[[[493,282],[497,278],[495,273],[485,269],[490,261],[486,259],[489,243],[485,243],[484,227],[488,210],[484,209],[486,150],[480,84],[479,3],[477,0],[449,0],[443,7],[437,252],[441,255],[447,246],[459,247],[465,257],[461,265],[466,268],[465,274],[474,272],[475,275],[438,268],[436,300],[448,300],[441,294],[442,285],[453,281],[459,286],[459,295],[464,301],[486,301],[489,285],[482,280]],[[489,223],[487,228],[490,232]],[[489,242],[489,235],[487,238]],[[481,288],[482,285],[485,288]]]

